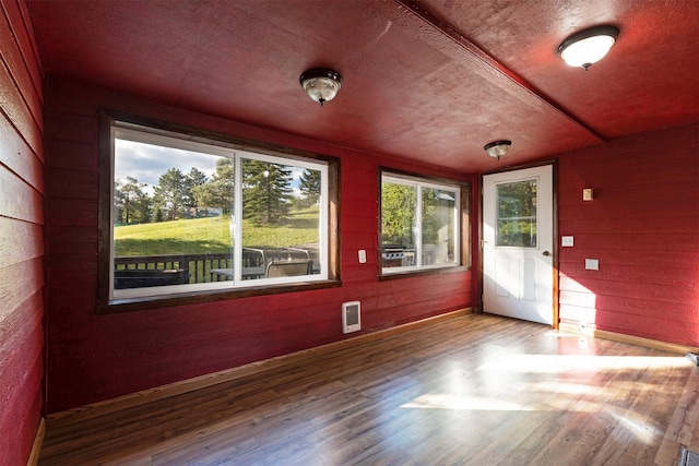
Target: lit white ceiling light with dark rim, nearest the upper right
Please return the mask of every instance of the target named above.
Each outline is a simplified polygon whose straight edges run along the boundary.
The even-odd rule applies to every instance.
[[[582,67],[588,71],[607,55],[617,37],[619,28],[616,26],[595,26],[581,31],[568,37],[558,46],[558,53],[571,67]]]

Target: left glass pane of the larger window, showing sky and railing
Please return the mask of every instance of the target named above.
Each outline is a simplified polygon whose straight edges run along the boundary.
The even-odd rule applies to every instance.
[[[232,162],[115,139],[115,289],[220,279],[211,270],[232,263]]]

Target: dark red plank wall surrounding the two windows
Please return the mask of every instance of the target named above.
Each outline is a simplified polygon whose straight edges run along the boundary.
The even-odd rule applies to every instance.
[[[365,332],[472,306],[471,272],[379,283],[370,252],[378,241],[379,165],[453,174],[399,166],[79,81],[49,76],[46,88],[49,413],[341,339],[344,301],[362,301]],[[96,314],[99,107],[341,157],[342,287]],[[366,264],[358,263],[358,249],[367,250]]]

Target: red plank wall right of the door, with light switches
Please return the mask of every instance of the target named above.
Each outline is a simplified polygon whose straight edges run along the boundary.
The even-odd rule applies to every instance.
[[[699,126],[577,151],[558,168],[559,234],[574,237],[559,249],[561,321],[699,346]]]

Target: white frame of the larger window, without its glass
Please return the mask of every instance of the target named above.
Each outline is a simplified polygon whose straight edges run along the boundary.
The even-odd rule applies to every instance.
[[[228,157],[235,160],[235,181],[234,181],[234,208],[232,212],[233,223],[233,264],[239,264],[242,258],[242,223],[236,222],[236,218],[242,218],[242,165],[241,159],[257,159],[261,162],[293,165],[299,168],[309,168],[320,171],[321,175],[321,193],[319,199],[319,262],[320,273],[303,276],[288,277],[262,277],[251,280],[241,279],[241,267],[234,266],[234,277],[227,282],[209,282],[201,284],[186,285],[167,285],[157,287],[125,288],[115,289],[115,239],[114,239],[114,196],[115,196],[115,141],[117,139],[154,144],[169,148],[178,148],[185,151],[199,152],[218,157]],[[315,282],[324,282],[329,279],[329,168],[328,163],[316,159],[301,159],[300,157],[284,157],[277,155],[269,155],[249,150],[240,150],[233,147],[223,141],[209,140],[203,138],[193,138],[185,134],[174,133],[165,130],[157,130],[149,127],[140,127],[132,123],[114,121],[110,126],[110,208],[109,208],[109,301],[129,300],[138,298],[168,298],[181,296],[192,292],[205,291],[225,291],[225,290],[245,290],[247,288],[258,288],[261,286],[279,286],[307,284]],[[138,174],[135,174],[138,176]],[[186,251],[182,251],[186,254]]]

